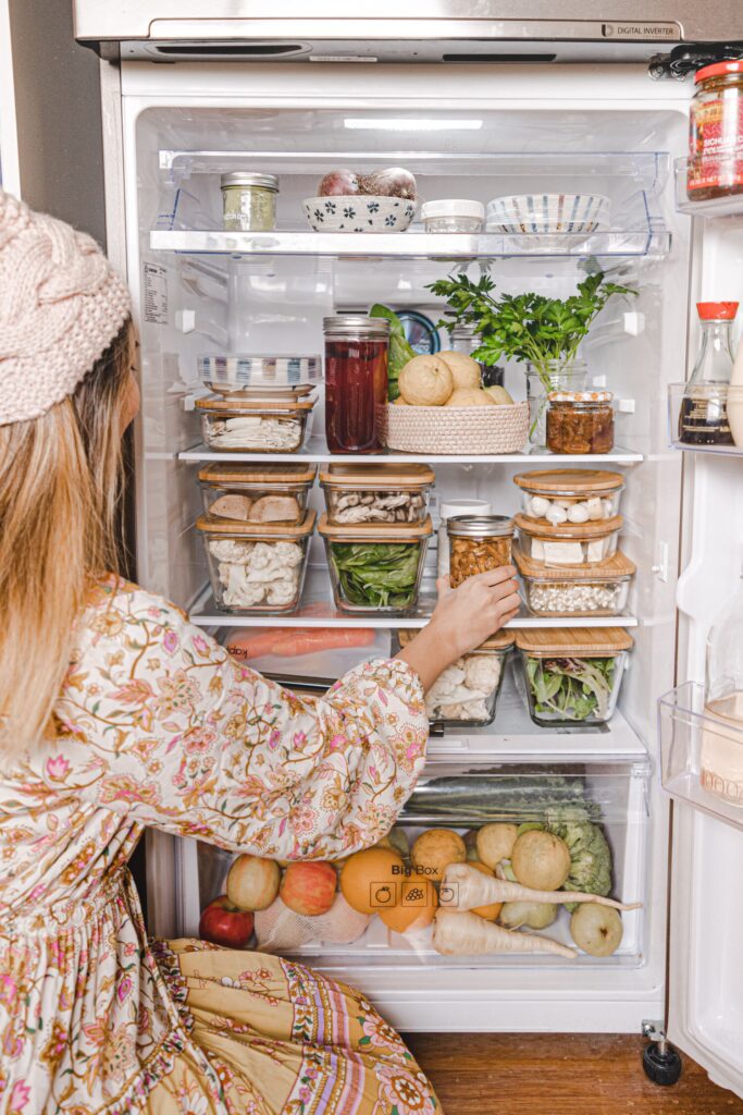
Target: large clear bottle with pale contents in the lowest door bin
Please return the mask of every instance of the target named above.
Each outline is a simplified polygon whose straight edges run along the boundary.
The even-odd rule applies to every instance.
[[[710,629],[704,710],[702,786],[743,806],[743,583]]]

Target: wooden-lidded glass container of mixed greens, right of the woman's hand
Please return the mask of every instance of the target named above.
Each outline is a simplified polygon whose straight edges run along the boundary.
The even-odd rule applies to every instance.
[[[603,724],[612,718],[632,636],[624,628],[527,628],[516,646],[535,724]]]

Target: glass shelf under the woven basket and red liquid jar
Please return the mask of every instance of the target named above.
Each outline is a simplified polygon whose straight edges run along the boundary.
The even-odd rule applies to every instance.
[[[196,445],[192,449],[182,449],[178,454],[178,460],[186,462],[198,462],[198,460],[224,460],[232,462],[236,464],[237,462],[267,462],[267,460],[281,460],[281,462],[296,462],[306,460],[322,463],[325,460],[340,460],[345,464],[349,463],[348,454],[332,454],[327,449],[327,444],[324,437],[313,436],[307,439],[306,446],[299,453],[215,453],[208,449],[205,445]],[[612,462],[615,465],[634,465],[643,460],[642,453],[633,453],[630,449],[624,449],[620,446],[615,446],[610,453],[597,454],[556,454],[548,453],[546,449],[536,449],[532,453],[504,453],[498,454],[498,456],[476,456],[468,454],[430,454],[430,453],[394,453],[388,450],[387,453],[380,454],[369,454],[354,456],[356,462],[369,463],[373,465],[380,460],[384,460],[388,464],[410,464],[411,462],[421,462],[422,464],[431,465],[496,465],[496,464],[559,464],[559,465],[576,465],[576,464],[593,464],[598,465],[602,463],[608,464]]]

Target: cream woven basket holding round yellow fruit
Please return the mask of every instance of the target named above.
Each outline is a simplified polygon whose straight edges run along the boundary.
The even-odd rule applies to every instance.
[[[400,453],[520,453],[528,433],[528,403],[387,408],[387,446]]]

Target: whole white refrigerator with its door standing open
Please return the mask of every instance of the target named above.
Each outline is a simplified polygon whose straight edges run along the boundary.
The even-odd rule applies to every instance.
[[[295,956],[362,988],[405,1031],[655,1028],[743,1095],[743,815],[701,791],[698,769],[706,637],[743,561],[743,454],[682,452],[668,408],[669,386],[683,384],[697,349],[695,302],[743,293],[743,203],[686,197],[693,86],[683,79],[702,60],[743,52],[743,17],[723,0],[703,13],[658,2],[653,22],[647,6],[629,0],[614,6],[612,22],[578,0],[563,7],[558,20],[532,0],[516,18],[496,2],[450,0],[411,3],[401,18],[390,3],[349,17],[325,2],[310,18],[289,2],[215,2],[205,16],[189,0],[115,9],[76,0],[76,33],[101,56],[108,243],[128,275],[141,339],[137,574],[217,638],[241,627],[373,629],[373,648],[355,658],[260,663],[284,676],[330,679],[389,653],[400,627],[430,614],[434,545],[421,605],[404,621],[339,612],[316,537],[296,613],[246,618],[215,605],[194,524],[197,473],[224,454],[203,443],[198,357],[322,352],[324,316],[373,302],[436,321],[443,307],[427,284],[457,269],[476,278],[489,270],[510,293],[567,297],[596,268],[636,289],[607,307],[584,350],[592,385],[617,400],[609,454],[387,459],[434,469],[434,520],[441,501],[457,497],[515,513],[512,479],[525,469],[624,475],[622,549],[637,566],[628,604],[617,618],[579,621],[633,637],[615,715],[593,729],[537,727],[511,662],[491,727],[431,736],[422,805],[401,824],[414,836],[431,820],[427,787],[459,787],[470,804],[437,823],[463,831],[479,787],[570,786],[600,809],[613,893],[642,909],[624,917],[620,948],[603,959],[442,957],[379,920],[353,944],[309,943]],[[301,202],[327,171],[394,165],[416,174],[423,197],[598,192],[610,197],[610,227],[550,243],[429,235],[418,223],[379,235],[307,227]],[[275,231],[225,231],[219,178],[239,169],[278,175]],[[522,371],[506,368],[516,398]],[[301,454],[320,466],[332,459],[322,407]],[[317,488],[312,503],[322,506]],[[550,626],[576,621],[522,609],[511,623]],[[150,834],[149,930],[195,934],[229,860]],[[566,927],[563,919],[548,932],[568,940]]]

